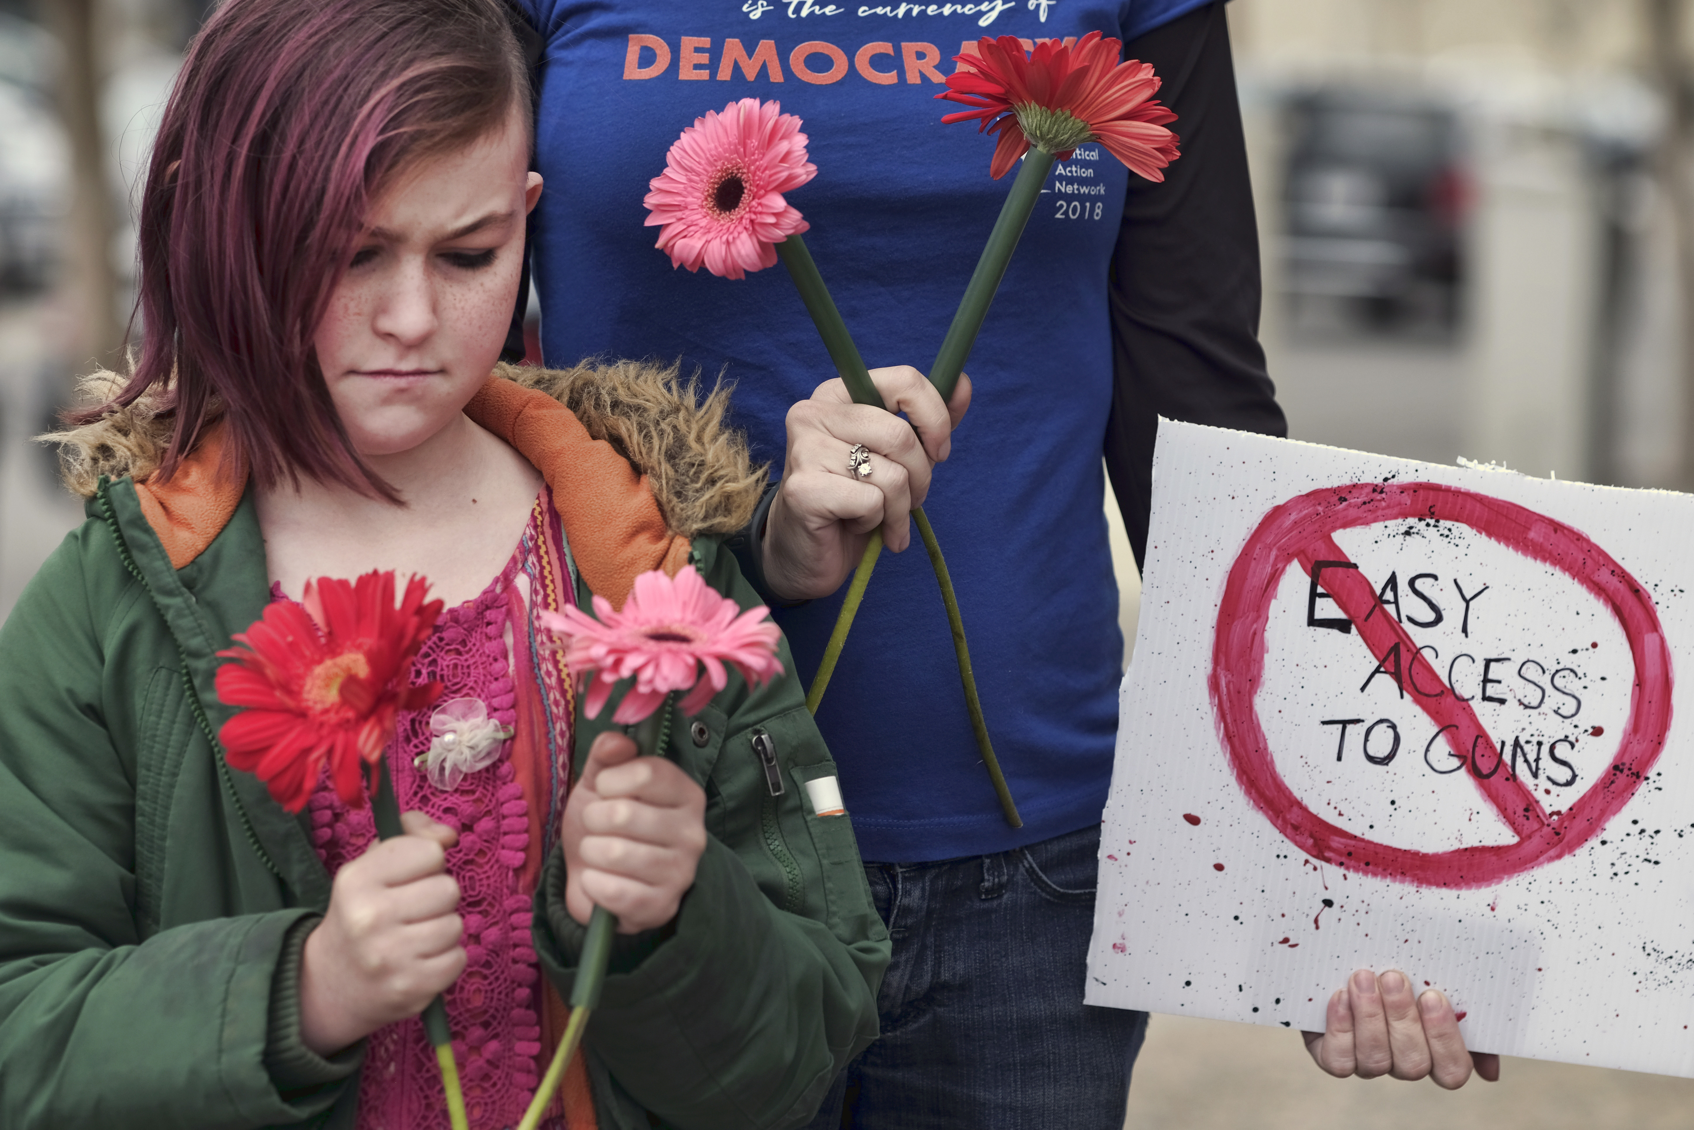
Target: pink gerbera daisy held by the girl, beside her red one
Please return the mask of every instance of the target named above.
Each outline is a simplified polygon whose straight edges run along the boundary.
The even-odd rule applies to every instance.
[[[606,705],[613,683],[635,679],[612,715],[630,725],[657,710],[671,691],[689,691],[679,710],[698,713],[728,684],[725,662],[754,686],[783,674],[776,657],[781,632],[767,615],[764,605],[742,612],[686,566],[676,579],[661,569],[637,576],[622,612],[595,596],[593,617],[566,608],[540,613],[540,622],[566,637],[571,674],[598,673],[583,698],[590,718]]]

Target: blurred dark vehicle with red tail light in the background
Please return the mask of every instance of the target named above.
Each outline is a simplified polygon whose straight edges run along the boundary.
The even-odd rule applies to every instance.
[[[1284,290],[1350,300],[1377,327],[1433,307],[1450,329],[1467,203],[1457,114],[1357,86],[1294,95],[1286,114]]]

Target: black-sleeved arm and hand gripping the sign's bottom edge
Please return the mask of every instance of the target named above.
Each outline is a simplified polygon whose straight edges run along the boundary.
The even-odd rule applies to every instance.
[[[1130,41],[1152,63],[1182,156],[1155,185],[1130,178],[1111,268],[1113,396],[1106,469],[1135,561],[1147,556],[1159,417],[1286,435],[1259,346],[1259,230],[1223,2]],[[1360,971],[1306,1049],[1333,1076],[1499,1077],[1497,1055],[1465,1050],[1453,1008],[1398,972]]]

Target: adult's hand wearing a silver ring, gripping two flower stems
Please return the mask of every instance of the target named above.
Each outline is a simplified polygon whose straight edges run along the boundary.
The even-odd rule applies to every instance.
[[[840,588],[877,527],[896,554],[911,544],[908,515],[928,495],[930,468],[947,459],[952,430],[971,407],[969,376],[959,378],[949,403],[910,366],[871,369],[871,379],[888,412],[852,403],[839,378],[788,410],[788,456],[762,544],[766,581],[784,600]],[[864,479],[847,469],[855,444],[871,451]]]

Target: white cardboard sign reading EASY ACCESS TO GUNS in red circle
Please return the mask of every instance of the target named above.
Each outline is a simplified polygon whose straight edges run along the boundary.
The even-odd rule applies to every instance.
[[[1088,1003],[1694,1076],[1694,496],[1162,420]],[[1316,576],[1315,576],[1316,574]]]

